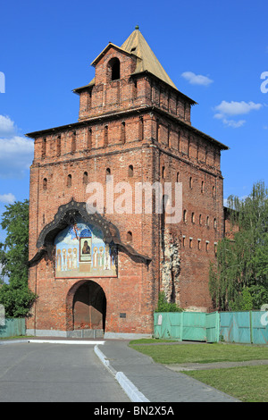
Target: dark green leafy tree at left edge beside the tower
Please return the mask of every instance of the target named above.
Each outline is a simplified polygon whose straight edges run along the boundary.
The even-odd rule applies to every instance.
[[[0,243],[0,265],[9,283],[0,288],[0,304],[7,317],[23,317],[36,298],[28,288],[29,200],[5,208],[1,226],[7,235]]]

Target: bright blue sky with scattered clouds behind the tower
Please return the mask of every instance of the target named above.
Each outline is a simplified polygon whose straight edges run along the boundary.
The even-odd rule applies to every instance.
[[[29,197],[33,142],[24,134],[77,122],[71,90],[92,80],[90,63],[136,25],[198,103],[192,125],[230,147],[222,152],[224,198],[246,197],[256,181],[267,186],[267,16],[259,0],[1,2],[0,216]]]

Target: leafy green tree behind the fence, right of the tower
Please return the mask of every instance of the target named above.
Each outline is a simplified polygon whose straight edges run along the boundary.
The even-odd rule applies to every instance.
[[[210,267],[209,289],[221,310],[259,309],[268,303],[268,190],[255,183],[248,197],[230,196],[233,239],[218,244]]]

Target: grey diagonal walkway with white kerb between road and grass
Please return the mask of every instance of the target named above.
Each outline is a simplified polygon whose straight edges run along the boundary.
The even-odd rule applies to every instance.
[[[96,354],[136,402],[239,402],[151,357],[128,347],[128,341],[105,340]]]

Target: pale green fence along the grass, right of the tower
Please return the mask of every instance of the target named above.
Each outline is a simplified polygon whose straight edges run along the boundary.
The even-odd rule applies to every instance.
[[[157,312],[155,338],[268,344],[268,312]]]

